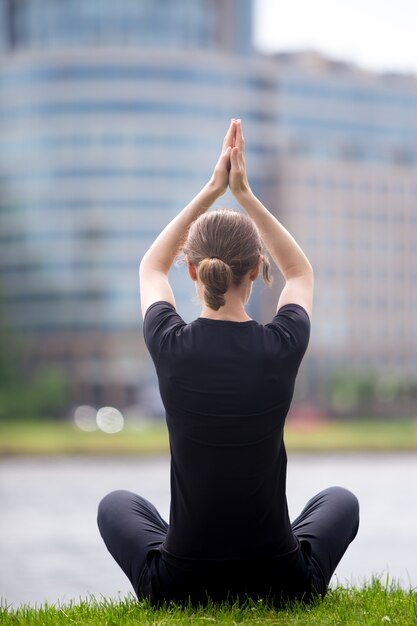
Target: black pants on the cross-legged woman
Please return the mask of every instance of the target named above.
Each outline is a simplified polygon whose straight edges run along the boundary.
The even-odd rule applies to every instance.
[[[98,526],[138,598],[204,603],[237,597],[309,600],[325,595],[330,579],[359,526],[356,497],[342,487],[314,496],[293,522],[300,549],[285,559],[195,564],[187,571],[167,563],[159,551],[168,524],[145,498],[113,491],[99,505]]]

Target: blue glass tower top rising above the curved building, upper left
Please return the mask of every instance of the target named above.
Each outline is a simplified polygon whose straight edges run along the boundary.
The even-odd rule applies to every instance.
[[[252,0],[2,0],[3,50],[143,46],[252,52]]]

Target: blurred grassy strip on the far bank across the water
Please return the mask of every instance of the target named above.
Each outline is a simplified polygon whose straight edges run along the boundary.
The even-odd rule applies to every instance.
[[[290,421],[285,440],[290,451],[415,451],[417,420],[327,421],[303,427]],[[0,422],[0,456],[167,452],[168,436],[162,421],[126,427],[111,435],[83,432],[70,421]]]

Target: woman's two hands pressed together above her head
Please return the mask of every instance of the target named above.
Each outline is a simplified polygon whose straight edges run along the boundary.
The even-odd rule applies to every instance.
[[[228,186],[236,197],[250,191],[246,174],[245,140],[240,120],[232,119],[230,123],[214,168],[212,183],[218,195],[225,193]]]

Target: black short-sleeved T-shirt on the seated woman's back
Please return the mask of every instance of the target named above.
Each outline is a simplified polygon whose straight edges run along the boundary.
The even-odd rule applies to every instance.
[[[288,305],[266,326],[185,324],[161,302],[148,310],[144,332],[171,443],[166,558],[178,564],[294,549],[282,431],[308,343],[305,311]]]

